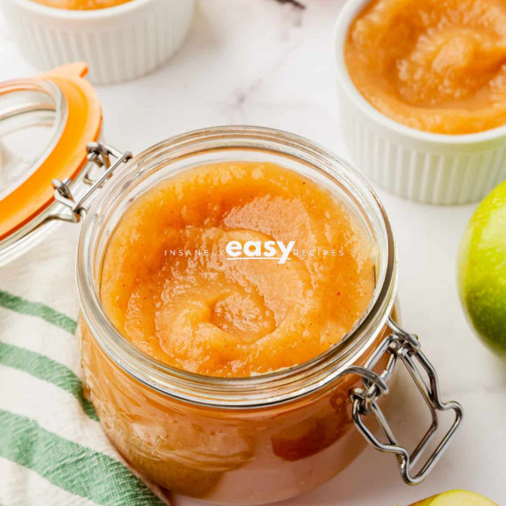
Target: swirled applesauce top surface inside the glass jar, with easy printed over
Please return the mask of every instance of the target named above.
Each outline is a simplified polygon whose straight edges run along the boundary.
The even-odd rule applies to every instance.
[[[173,367],[274,372],[326,351],[364,314],[374,247],[345,203],[268,163],[200,165],[134,200],[103,260],[104,311]]]

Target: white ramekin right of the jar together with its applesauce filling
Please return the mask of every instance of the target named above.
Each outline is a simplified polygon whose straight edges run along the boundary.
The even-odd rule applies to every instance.
[[[493,1],[418,7],[410,0],[349,0],[337,19],[336,77],[349,157],[395,195],[422,203],[472,203],[506,178],[506,10]],[[466,13],[471,8],[476,12]],[[445,9],[454,12],[445,17]],[[357,43],[374,52],[357,48],[351,62],[363,67],[358,87],[371,80],[373,88],[365,92],[346,60],[353,29]]]

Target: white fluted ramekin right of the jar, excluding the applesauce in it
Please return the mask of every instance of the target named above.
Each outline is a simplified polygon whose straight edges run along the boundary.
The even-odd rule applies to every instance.
[[[478,134],[422,132],[375,109],[358,92],[344,61],[349,26],[371,0],[348,0],[334,33],[343,135],[349,157],[380,187],[410,200],[463,204],[506,179],[506,126]]]

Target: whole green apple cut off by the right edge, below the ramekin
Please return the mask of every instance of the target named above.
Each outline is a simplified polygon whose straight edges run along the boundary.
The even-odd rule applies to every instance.
[[[458,283],[472,326],[506,355],[506,181],[472,215],[459,248]]]

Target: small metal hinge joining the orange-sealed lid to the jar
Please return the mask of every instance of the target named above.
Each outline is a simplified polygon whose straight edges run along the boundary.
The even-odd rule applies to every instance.
[[[73,182],[72,180],[52,180],[53,188],[55,188],[55,199],[58,203],[65,205],[71,212],[51,215],[51,219],[62,219],[72,223],[80,222],[80,219],[84,218],[86,211],[88,211],[88,201],[96,192],[96,189],[103,186],[105,180],[111,177],[112,173],[119,165],[126,163],[132,158],[132,153],[129,151],[122,153],[118,149],[106,146],[100,142],[90,142],[86,146],[86,150],[88,151],[88,162],[91,162],[93,165],[88,169],[87,173],[84,174],[83,179],[91,188],[76,201],[70,189],[70,185]],[[111,157],[115,158],[112,165]],[[94,165],[105,169],[105,172],[96,180],[90,178],[91,168],[93,168]]]

